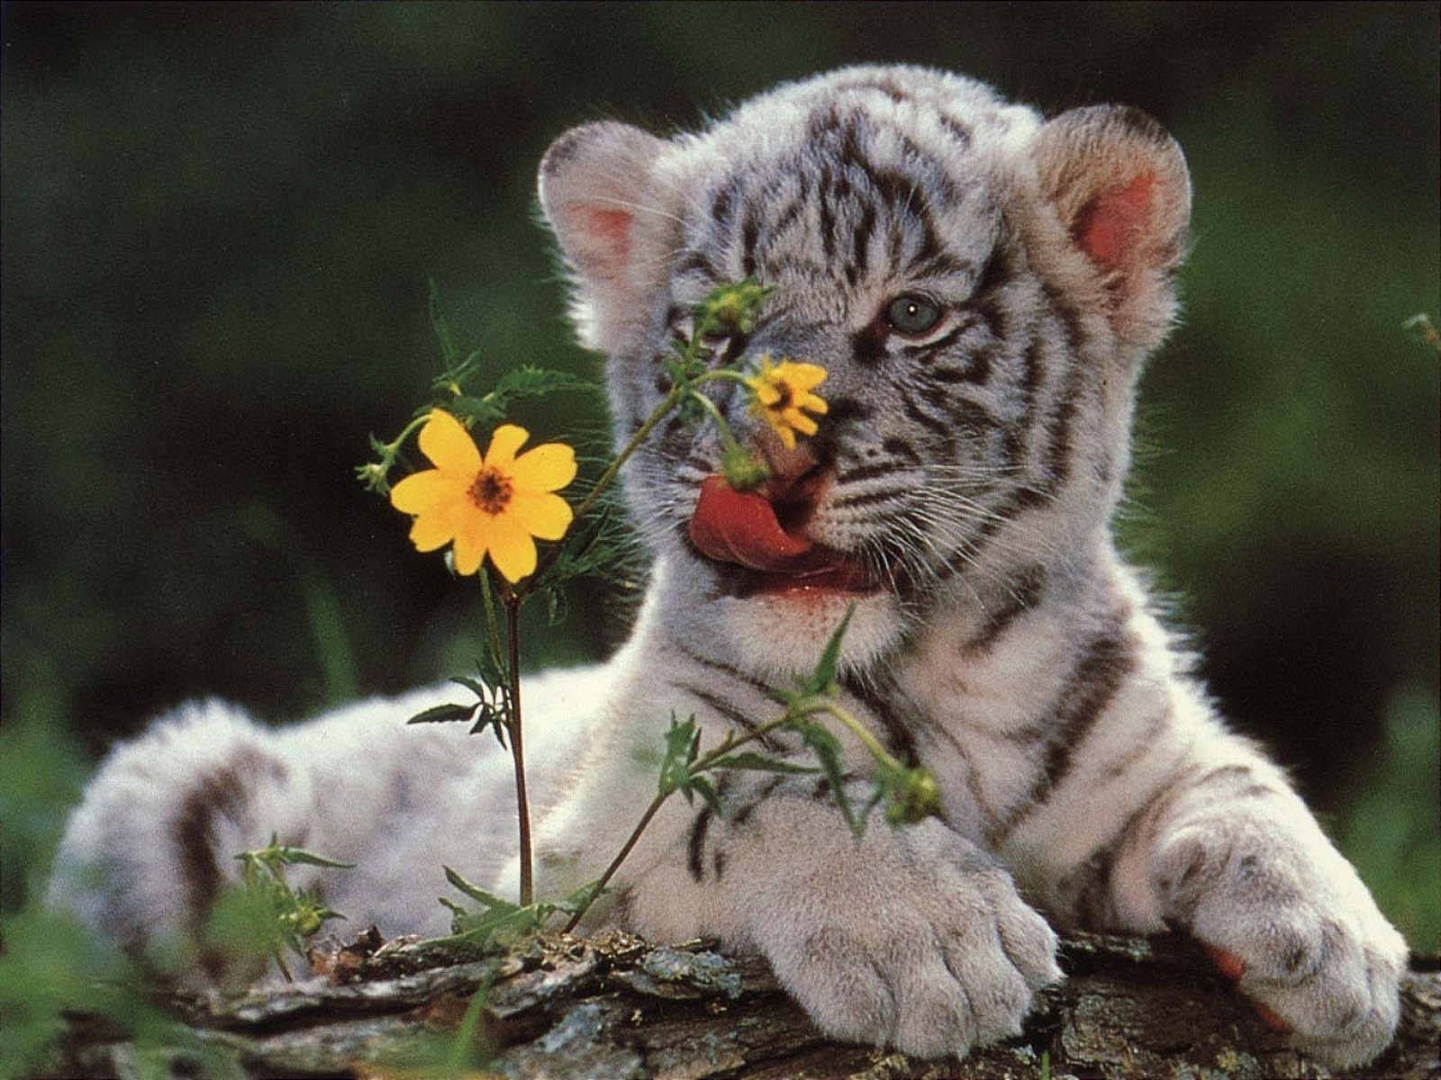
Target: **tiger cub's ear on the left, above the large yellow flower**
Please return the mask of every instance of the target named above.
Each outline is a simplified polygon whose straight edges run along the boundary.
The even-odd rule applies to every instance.
[[[574,272],[571,315],[581,341],[612,351],[638,320],[666,251],[656,158],[666,143],[628,124],[585,124],[540,160],[540,209]]]

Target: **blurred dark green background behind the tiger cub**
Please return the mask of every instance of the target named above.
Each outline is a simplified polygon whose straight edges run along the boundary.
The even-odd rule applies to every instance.
[[[856,60],[1138,105],[1196,189],[1124,533],[1435,949],[1438,6],[12,4],[3,12],[4,910],[114,739],[468,667],[473,590],[352,480],[438,372],[597,370],[533,212],[566,127],[695,125]],[[559,400],[559,399],[556,399]],[[598,400],[523,419],[598,439]],[[597,657],[614,592],[532,664]]]

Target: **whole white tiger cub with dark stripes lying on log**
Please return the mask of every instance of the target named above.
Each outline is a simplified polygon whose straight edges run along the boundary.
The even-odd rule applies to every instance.
[[[628,467],[654,553],[634,634],[527,683],[539,894],[617,851],[654,783],[635,750],[673,711],[708,746],[769,719],[855,605],[844,704],[934,772],[942,816],[855,841],[813,778],[729,775],[723,814],[667,804],[592,924],[759,950],[826,1032],[918,1056],[1016,1034],[1061,976],[1052,926],[1176,926],[1320,1061],[1386,1045],[1405,943],[1215,717],[1110,537],[1189,200],[1180,150],[1136,111],[1043,121],[905,66],[785,85],[696,135],[589,124],[550,147],[540,204],[610,357],[617,439],[666,392],[692,305],[745,276],[775,297],[715,356],[824,364],[830,412],[788,451],[715,395],[804,570],[689,539],[713,431],[673,423]],[[357,863],[327,899],[386,933],[444,930],[442,863],[513,894],[509,759],[403,726],[438,693],[280,733],[182,710],[91,785],[52,901],[131,948],[184,936],[271,831]],[[869,757],[846,749],[860,791]]]

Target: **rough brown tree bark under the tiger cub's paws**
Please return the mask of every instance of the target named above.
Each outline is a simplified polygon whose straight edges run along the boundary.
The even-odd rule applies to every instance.
[[[504,1076],[525,1080],[1027,1080],[1032,1077],[1329,1076],[1270,1031],[1189,940],[1075,935],[1066,981],[1040,995],[1025,1032],[964,1061],[824,1038],[758,958],[706,943],[651,948],[623,933],[546,936],[500,958],[442,943],[359,942],[313,953],[324,972],[238,996],[171,999],[209,1057],[256,1077]],[[1395,1044],[1352,1077],[1441,1076],[1441,971],[1406,976]],[[474,1037],[457,1032],[467,1007]],[[218,1053],[215,1053],[218,1051]],[[66,1071],[72,1070],[72,1071]],[[78,1021],[56,1074],[130,1076],[134,1048]]]

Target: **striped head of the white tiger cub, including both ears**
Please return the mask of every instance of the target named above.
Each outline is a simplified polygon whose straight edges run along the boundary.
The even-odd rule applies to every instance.
[[[808,667],[853,602],[846,660],[865,664],[941,609],[983,622],[1104,549],[1190,204],[1150,118],[1043,121],[961,76],[847,68],[695,135],[575,128],[539,194],[581,338],[610,357],[618,441],[667,392],[672,341],[718,282],[775,288],[752,334],[708,341],[718,363],[829,373],[829,412],[794,449],[712,384],[772,472],[774,523],[706,523],[733,550],[692,528],[713,428],[663,425],[625,477],[673,616],[745,667]],[[772,557],[775,536],[804,554]]]

